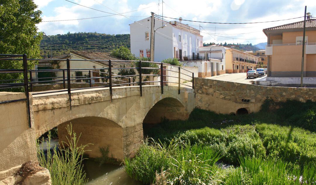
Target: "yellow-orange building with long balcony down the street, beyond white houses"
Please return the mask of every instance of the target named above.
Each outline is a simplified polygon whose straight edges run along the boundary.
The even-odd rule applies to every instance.
[[[259,57],[234,48],[225,47],[225,49],[226,73],[245,73],[248,68],[257,68]]]

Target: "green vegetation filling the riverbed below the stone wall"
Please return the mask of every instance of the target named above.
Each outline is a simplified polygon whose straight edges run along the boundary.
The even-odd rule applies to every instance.
[[[259,112],[248,115],[194,109],[186,121],[163,119],[144,130],[160,144],[145,142],[134,159],[125,160],[125,169],[132,178],[154,184],[314,184],[315,111],[310,101],[269,99]],[[208,164],[203,169],[208,159],[231,166]],[[205,171],[210,176],[203,176]]]

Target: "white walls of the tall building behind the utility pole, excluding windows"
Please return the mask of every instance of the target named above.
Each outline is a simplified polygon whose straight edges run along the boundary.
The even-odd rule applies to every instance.
[[[149,20],[149,21],[148,21]],[[140,24],[138,24],[138,23]],[[151,17],[140,20],[130,24],[131,33],[131,53],[136,57],[139,57],[139,50],[143,49],[144,57],[146,57],[146,49],[150,49],[150,27]],[[142,25],[144,26],[142,26]],[[159,28],[162,25],[167,27]],[[157,29],[159,28],[159,29]],[[179,51],[182,49],[182,56],[192,55],[198,53],[197,46],[203,46],[203,36],[197,35],[178,27],[173,26],[169,22],[163,22],[159,19],[155,19],[155,62],[161,62],[167,58],[174,57],[174,47]],[[149,40],[145,40],[145,32],[149,33]],[[181,42],[179,41],[179,33],[181,35]],[[163,35],[162,35],[163,34]],[[187,43],[185,43],[185,35],[187,35]],[[191,43],[190,43],[191,37]],[[197,39],[199,44],[197,45]]]

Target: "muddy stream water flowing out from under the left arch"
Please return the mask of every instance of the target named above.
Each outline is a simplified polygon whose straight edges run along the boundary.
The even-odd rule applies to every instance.
[[[86,185],[142,185],[143,183],[131,179],[124,167],[115,164],[103,164],[93,159],[86,159],[83,163],[87,174],[88,182]]]

